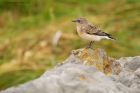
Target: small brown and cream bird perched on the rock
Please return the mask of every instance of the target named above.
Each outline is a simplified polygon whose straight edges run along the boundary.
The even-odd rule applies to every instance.
[[[76,18],[72,20],[76,23],[78,35],[85,40],[90,41],[87,48],[92,48],[94,42],[101,41],[102,39],[115,40],[112,35],[104,32],[101,28],[95,24],[88,22],[84,17]]]

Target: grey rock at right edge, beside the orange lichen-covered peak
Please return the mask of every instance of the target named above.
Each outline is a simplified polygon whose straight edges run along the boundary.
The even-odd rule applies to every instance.
[[[115,80],[140,93],[140,57],[126,57],[117,61],[121,64],[122,71]]]

